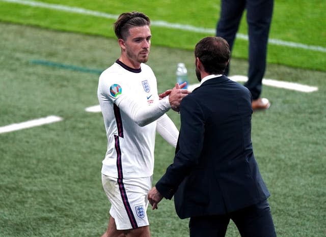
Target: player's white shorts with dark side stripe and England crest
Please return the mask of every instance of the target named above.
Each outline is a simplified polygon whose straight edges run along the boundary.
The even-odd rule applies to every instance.
[[[149,225],[146,211],[152,176],[117,179],[102,174],[102,186],[111,202],[110,215],[115,219],[117,229],[134,229]]]

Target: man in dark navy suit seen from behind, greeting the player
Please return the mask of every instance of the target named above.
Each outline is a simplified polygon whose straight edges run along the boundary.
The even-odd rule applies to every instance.
[[[230,57],[223,38],[199,41],[195,57],[201,85],[181,101],[176,154],[148,194],[152,209],[174,195],[192,237],[225,236],[230,219],[241,236],[276,236],[253,153],[251,93],[222,75]]]

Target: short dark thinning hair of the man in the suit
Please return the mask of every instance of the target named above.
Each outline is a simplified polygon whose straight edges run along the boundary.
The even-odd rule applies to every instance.
[[[196,44],[195,57],[207,73],[223,74],[230,58],[229,44],[221,37],[205,37]]]

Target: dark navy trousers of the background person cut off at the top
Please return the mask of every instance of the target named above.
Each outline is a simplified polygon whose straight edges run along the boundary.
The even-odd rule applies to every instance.
[[[274,0],[222,0],[216,36],[224,38],[232,50],[244,9],[247,9],[249,35],[248,81],[244,84],[253,99],[260,97],[266,68],[267,42]],[[228,75],[229,67],[225,71]]]

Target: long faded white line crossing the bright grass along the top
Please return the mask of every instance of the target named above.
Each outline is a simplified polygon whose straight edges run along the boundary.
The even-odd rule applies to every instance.
[[[114,20],[116,20],[118,18],[118,15],[114,15],[114,14],[97,12],[97,11],[92,11],[92,10],[88,10],[88,9],[84,9],[84,8],[69,7],[69,6],[65,6],[65,5],[59,5],[59,4],[48,4],[48,3],[36,2],[36,1],[25,1],[25,0],[0,0],[0,2],[15,3],[15,4],[25,5],[25,6],[39,7],[39,8],[46,8],[46,9],[54,9],[54,10],[59,10],[59,11],[78,13],[78,14],[90,15],[90,16],[96,16],[96,17],[103,17],[103,18],[114,19]],[[158,21],[151,21],[151,25],[164,27],[164,28],[181,29],[183,31],[189,31],[189,32],[207,33],[210,35],[215,35],[215,29],[197,27],[197,26],[187,25],[187,24],[170,23],[170,22],[158,20]],[[248,41],[248,35],[238,33],[236,35],[236,37],[238,39]],[[279,40],[279,39],[268,39],[268,43],[274,44],[274,45],[279,45],[279,46],[291,47],[291,48],[302,48],[302,49],[307,49],[307,50],[312,50],[312,51],[326,52],[326,48],[322,47],[322,46],[307,45],[307,44],[283,41],[283,40]]]

